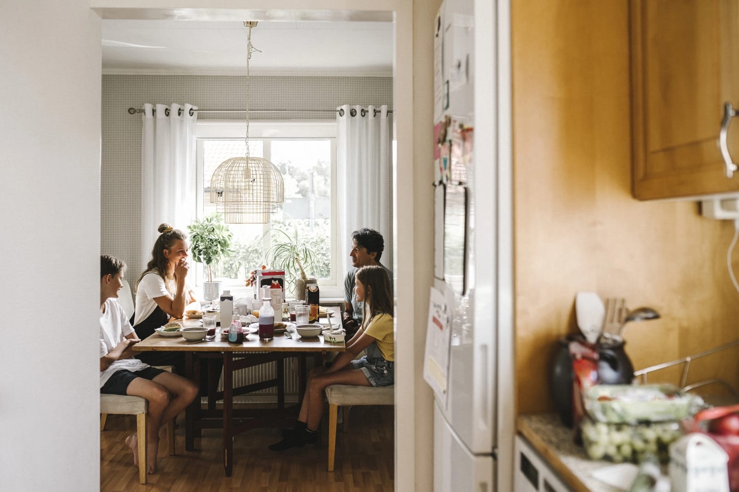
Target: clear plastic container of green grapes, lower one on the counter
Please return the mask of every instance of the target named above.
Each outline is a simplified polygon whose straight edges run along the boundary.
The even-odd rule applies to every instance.
[[[670,444],[684,434],[679,422],[630,425],[596,422],[585,418],[580,424],[585,454],[591,460],[641,462],[653,454],[661,462],[670,459]]]

